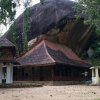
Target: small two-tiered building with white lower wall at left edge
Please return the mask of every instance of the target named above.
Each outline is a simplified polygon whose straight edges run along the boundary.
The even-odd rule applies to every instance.
[[[6,38],[0,38],[0,84],[13,83],[15,45]]]

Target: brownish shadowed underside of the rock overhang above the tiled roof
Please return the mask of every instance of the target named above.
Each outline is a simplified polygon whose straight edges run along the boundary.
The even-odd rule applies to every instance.
[[[49,40],[70,47],[75,53],[80,54],[88,49],[88,44],[93,38],[93,27],[84,25],[84,20],[68,20],[62,29],[54,27],[46,34],[39,35],[29,41],[29,47],[35,46],[41,40]]]

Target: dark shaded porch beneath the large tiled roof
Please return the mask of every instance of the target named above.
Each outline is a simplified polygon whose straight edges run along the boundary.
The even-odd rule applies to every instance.
[[[13,72],[14,81],[86,81],[91,78],[89,68],[64,64],[14,67]]]

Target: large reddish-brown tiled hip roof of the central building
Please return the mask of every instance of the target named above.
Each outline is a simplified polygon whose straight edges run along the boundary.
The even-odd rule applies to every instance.
[[[19,57],[17,61],[21,66],[40,66],[48,64],[67,64],[72,66],[89,67],[90,64],[81,60],[71,49],[66,46],[49,42],[41,41],[37,46]]]

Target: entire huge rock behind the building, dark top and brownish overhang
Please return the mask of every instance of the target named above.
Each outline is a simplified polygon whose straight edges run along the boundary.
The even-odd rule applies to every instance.
[[[28,40],[47,39],[69,46],[79,54],[91,37],[91,26],[75,19],[74,3],[69,0],[45,0],[30,8],[31,30]],[[16,19],[16,42],[22,50],[23,14]],[[12,41],[11,29],[3,37]],[[37,38],[37,39],[36,39]],[[33,43],[34,44],[34,43]]]

